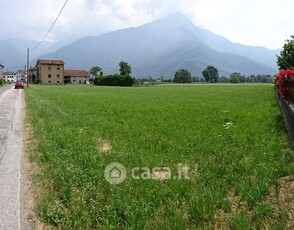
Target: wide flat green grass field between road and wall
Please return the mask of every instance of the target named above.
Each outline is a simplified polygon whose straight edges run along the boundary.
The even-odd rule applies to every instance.
[[[270,191],[293,151],[270,84],[31,86],[25,98],[36,213],[52,228],[286,226]],[[104,177],[112,162],[127,170],[121,184]],[[154,179],[164,167],[172,179]]]

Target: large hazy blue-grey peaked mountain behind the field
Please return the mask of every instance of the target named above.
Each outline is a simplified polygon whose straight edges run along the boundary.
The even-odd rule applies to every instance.
[[[118,72],[119,62],[126,61],[136,77],[172,77],[179,68],[200,76],[207,65],[221,75],[273,74],[277,53],[233,43],[176,13],[139,27],[85,37],[40,58],[63,59],[68,69],[99,65],[105,74]]]

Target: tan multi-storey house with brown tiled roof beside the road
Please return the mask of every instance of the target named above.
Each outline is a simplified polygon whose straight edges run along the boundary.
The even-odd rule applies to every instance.
[[[64,83],[64,61],[39,59],[36,67],[37,78],[41,84]]]

